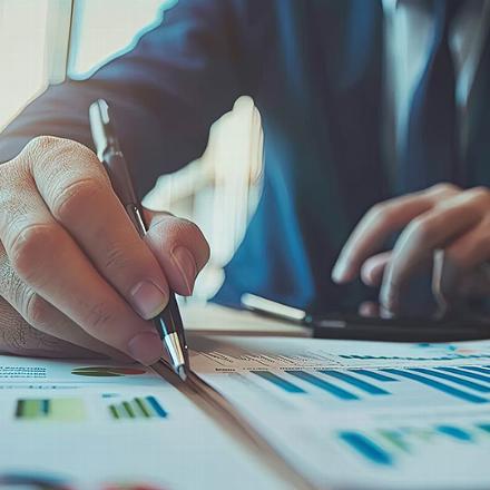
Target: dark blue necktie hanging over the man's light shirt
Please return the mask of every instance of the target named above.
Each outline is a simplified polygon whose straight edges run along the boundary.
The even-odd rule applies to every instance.
[[[399,190],[420,190],[440,182],[463,185],[459,157],[454,61],[449,28],[461,0],[434,0],[434,38],[409,115]]]

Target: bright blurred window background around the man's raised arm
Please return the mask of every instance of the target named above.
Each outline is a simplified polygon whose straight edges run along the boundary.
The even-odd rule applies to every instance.
[[[130,49],[177,0],[0,0],[0,130],[49,84],[82,79]],[[263,133],[253,100],[241,97],[210,129],[204,155],[161,176],[145,198],[196,222],[212,259],[193,301],[223,282],[223,266],[255,210],[263,165]]]

